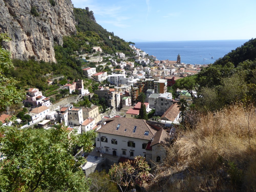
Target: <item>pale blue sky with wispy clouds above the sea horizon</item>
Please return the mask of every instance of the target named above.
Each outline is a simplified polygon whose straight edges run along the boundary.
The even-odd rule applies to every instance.
[[[255,0],[72,0],[126,41],[251,39]]]

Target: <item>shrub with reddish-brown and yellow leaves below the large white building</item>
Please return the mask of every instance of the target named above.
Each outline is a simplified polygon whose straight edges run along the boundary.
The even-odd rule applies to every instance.
[[[142,186],[150,179],[150,168],[142,156],[134,157],[134,161],[114,164],[109,170],[111,181],[115,182],[122,192],[134,189],[135,185]]]

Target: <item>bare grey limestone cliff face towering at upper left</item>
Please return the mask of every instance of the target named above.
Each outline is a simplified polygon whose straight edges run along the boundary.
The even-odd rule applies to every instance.
[[[63,35],[76,33],[71,0],[0,0],[0,33],[12,41],[3,46],[13,58],[54,61],[54,44],[62,45]],[[38,16],[30,13],[35,8]]]

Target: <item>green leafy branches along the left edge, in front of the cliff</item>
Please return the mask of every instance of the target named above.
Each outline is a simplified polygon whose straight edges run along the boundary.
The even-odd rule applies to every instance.
[[[7,77],[10,69],[13,68],[13,63],[10,59],[11,53],[3,48],[2,42],[10,40],[7,34],[0,33],[0,112],[25,98],[25,92],[15,87],[17,81],[12,77]]]

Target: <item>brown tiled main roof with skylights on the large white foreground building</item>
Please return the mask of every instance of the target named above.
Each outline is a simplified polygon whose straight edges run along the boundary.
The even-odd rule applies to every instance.
[[[118,124],[120,124],[119,129],[116,130]],[[135,126],[136,130],[133,133]],[[144,135],[145,131],[148,131],[148,135]],[[153,138],[157,130],[148,125],[145,120],[120,117],[103,125],[97,132],[151,141],[150,138]]]

